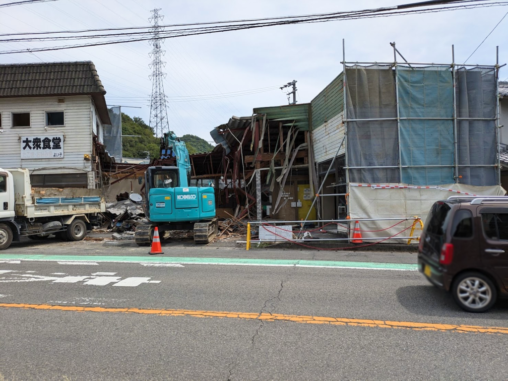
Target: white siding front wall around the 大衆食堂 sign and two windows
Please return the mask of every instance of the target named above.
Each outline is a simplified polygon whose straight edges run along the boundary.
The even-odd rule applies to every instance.
[[[85,153],[92,153],[92,132],[90,116],[95,113],[88,96],[65,97],[65,103],[58,103],[57,97],[7,98],[0,99],[2,129],[0,134],[0,168],[27,168],[30,173],[77,173],[91,171],[90,161],[84,161]],[[44,131],[46,111],[65,111],[65,126]],[[30,112],[30,128],[11,128],[11,112]],[[21,160],[21,136],[49,136],[63,134],[63,158]],[[93,177],[91,178],[93,180]]]

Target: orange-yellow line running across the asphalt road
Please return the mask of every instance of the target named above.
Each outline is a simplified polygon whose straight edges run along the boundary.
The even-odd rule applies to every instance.
[[[480,327],[462,324],[458,325],[458,324],[398,322],[398,321],[370,320],[370,319],[347,319],[345,317],[284,315],[280,313],[270,314],[270,313],[253,313],[253,312],[218,312],[218,311],[197,311],[188,309],[106,308],[106,307],[61,306],[55,304],[25,304],[25,303],[0,303],[0,307],[78,311],[78,312],[141,313],[162,316],[220,317],[230,319],[283,321],[283,322],[307,323],[307,324],[331,324],[337,326],[399,328],[419,331],[440,331],[440,332],[453,331],[464,333],[496,333],[508,335],[508,327]]]

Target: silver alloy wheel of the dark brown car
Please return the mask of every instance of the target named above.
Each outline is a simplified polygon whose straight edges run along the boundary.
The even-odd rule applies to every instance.
[[[468,312],[487,311],[497,299],[494,283],[479,272],[460,274],[453,281],[451,291],[455,302]]]

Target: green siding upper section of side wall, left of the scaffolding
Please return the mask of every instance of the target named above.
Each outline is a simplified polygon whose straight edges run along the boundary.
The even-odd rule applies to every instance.
[[[340,114],[343,102],[344,90],[342,88],[342,73],[340,73],[310,102],[312,129],[319,127],[335,115]]]

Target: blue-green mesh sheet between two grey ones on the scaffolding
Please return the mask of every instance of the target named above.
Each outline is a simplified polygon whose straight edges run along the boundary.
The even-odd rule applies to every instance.
[[[453,120],[451,119],[453,118],[453,79],[450,68],[399,68],[397,73],[401,118],[401,164],[402,166],[427,166],[402,168],[402,182],[414,185],[454,183]]]

